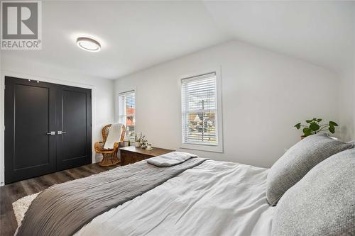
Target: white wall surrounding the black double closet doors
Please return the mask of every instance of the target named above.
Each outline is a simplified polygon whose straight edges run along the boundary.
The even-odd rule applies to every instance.
[[[114,81],[78,74],[75,71],[21,60],[19,57],[1,58],[0,88],[0,182],[4,182],[4,76],[33,79],[92,89],[92,142],[102,140],[104,125],[114,120]],[[93,145],[92,145],[93,146]],[[100,156],[93,150],[92,162]]]

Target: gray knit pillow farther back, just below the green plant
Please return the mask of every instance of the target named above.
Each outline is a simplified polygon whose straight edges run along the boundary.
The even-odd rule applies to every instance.
[[[316,164],[350,147],[353,147],[353,144],[334,140],[327,134],[310,135],[297,142],[268,172],[268,203],[275,206],[283,193],[300,181]]]

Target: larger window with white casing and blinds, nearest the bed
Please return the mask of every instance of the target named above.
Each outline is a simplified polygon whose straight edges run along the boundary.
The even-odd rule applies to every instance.
[[[181,79],[182,148],[223,152],[219,69]]]

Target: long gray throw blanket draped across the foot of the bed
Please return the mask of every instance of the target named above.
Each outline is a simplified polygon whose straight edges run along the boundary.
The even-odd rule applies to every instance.
[[[136,162],[51,186],[33,200],[17,235],[73,235],[97,215],[154,189],[205,160],[192,158],[173,167]]]

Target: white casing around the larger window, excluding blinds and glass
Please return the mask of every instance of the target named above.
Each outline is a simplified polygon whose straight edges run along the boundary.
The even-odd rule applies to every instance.
[[[217,100],[217,112],[216,112],[216,138],[217,145],[211,144],[192,144],[185,142],[183,138],[184,133],[184,123],[183,123],[183,108],[184,104],[182,103],[182,80],[183,79],[192,79],[193,77],[199,77],[204,74],[216,74],[216,100]],[[221,67],[213,67],[208,69],[201,69],[199,72],[194,72],[190,74],[184,74],[179,77],[180,83],[180,140],[182,149],[190,149],[190,150],[201,150],[206,152],[224,152],[223,150],[223,119],[222,119],[222,79],[221,79]]]

